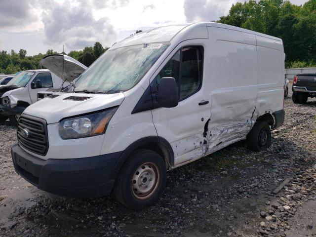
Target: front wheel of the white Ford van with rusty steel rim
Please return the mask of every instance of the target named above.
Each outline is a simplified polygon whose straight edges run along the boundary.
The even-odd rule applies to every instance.
[[[161,195],[166,183],[166,166],[156,152],[138,150],[121,168],[114,194],[123,205],[139,210]]]

